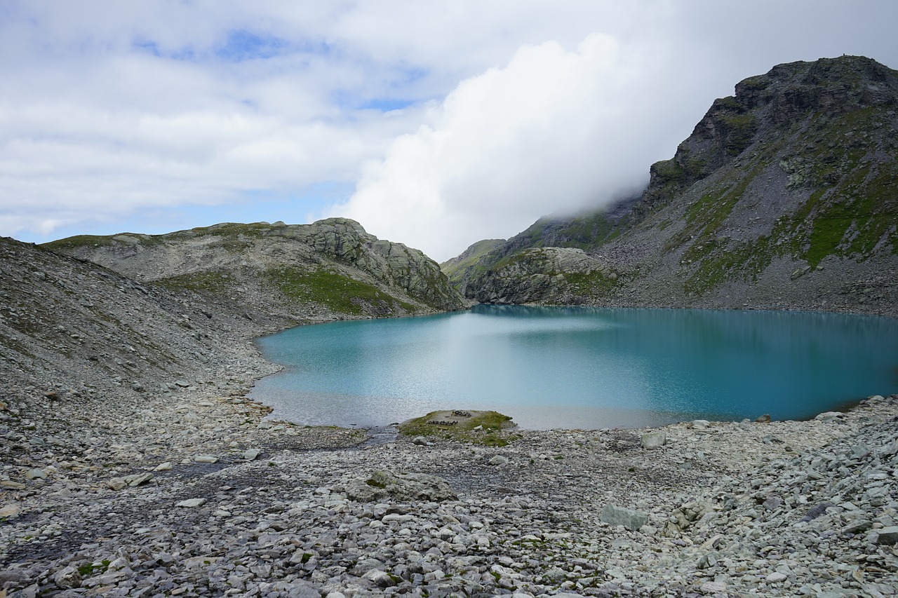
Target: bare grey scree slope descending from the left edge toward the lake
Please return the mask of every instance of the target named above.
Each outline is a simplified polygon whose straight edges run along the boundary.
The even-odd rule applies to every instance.
[[[214,311],[198,295],[143,285],[4,237],[0,268],[3,402],[46,395],[40,399],[45,415],[61,417],[64,405],[77,413],[83,404],[111,397],[139,404],[140,396],[178,386],[239,386],[258,377],[260,368],[277,369],[249,340],[284,328],[284,318]]]

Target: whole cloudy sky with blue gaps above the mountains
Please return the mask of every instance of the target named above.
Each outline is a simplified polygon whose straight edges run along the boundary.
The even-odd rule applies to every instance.
[[[345,216],[443,261],[638,193],[740,80],[898,68],[898,2],[4,0],[0,235]]]

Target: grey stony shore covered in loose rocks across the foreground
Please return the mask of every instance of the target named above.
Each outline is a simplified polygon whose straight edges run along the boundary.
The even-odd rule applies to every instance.
[[[898,587],[898,396],[811,421],[519,430],[487,447],[365,444],[266,418],[245,382],[173,386],[90,409],[9,395],[0,595]]]

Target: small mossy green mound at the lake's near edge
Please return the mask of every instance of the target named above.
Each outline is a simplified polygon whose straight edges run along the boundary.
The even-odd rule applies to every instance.
[[[497,411],[469,411],[470,418],[453,418],[458,423],[453,426],[428,424],[443,421],[446,411],[432,411],[421,418],[409,419],[400,424],[399,431],[407,436],[437,436],[464,443],[484,446],[505,446],[517,437],[509,429],[515,427],[511,418]],[[451,412],[450,412],[451,413]]]

